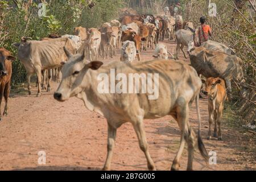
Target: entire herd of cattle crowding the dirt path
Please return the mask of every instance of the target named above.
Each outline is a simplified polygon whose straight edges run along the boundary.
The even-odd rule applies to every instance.
[[[108,121],[108,155],[104,169],[110,169],[113,147],[117,128],[125,122],[132,123],[139,139],[139,146],[144,152],[148,169],[154,170],[155,164],[148,152],[146,136],[143,129],[143,119],[155,119],[172,115],[181,130],[179,151],[172,164],[172,169],[179,169],[180,158],[185,142],[188,144],[188,166],[192,169],[193,150],[196,135],[188,122],[189,105],[196,101],[199,118],[197,142],[201,155],[207,159],[200,134],[199,93],[202,88],[203,75],[207,80],[203,92],[209,100],[209,134],[211,125],[215,123],[214,137],[222,139],[221,117],[224,102],[231,91],[231,81],[243,80],[241,59],[234,51],[224,44],[208,40],[200,47],[195,47],[198,41],[197,28],[193,23],[183,21],[182,16],[175,18],[168,15],[130,15],[119,20],[104,23],[100,28],[76,27],[74,35],[54,35],[41,40],[31,40],[22,37],[18,47],[18,59],[27,71],[28,93],[31,94],[30,78],[37,75],[38,96],[44,86],[45,75],[48,76],[47,91],[50,90],[52,74],[60,81],[54,94],[57,101],[65,101],[70,97],[78,97],[85,106],[103,115]],[[176,56],[168,51],[167,46],[159,41],[168,38],[177,43]],[[191,65],[179,61],[179,51],[187,47]],[[121,48],[121,61],[103,64],[98,60],[112,58]],[[140,52],[147,48],[155,49],[155,60],[141,61]],[[186,53],[183,51],[184,56]],[[88,60],[89,61],[86,61]],[[137,61],[134,61],[138,59]],[[175,60],[174,60],[175,59]],[[15,57],[5,48],[0,48],[0,104],[5,97],[5,111],[10,92],[11,60]],[[97,92],[97,75],[110,74],[110,69],[117,73],[159,73],[159,98],[148,100],[146,94],[100,94]],[[46,74],[47,73],[47,74]],[[62,75],[62,78],[60,78]],[[0,110],[1,112],[1,110]],[[0,116],[1,119],[1,116]],[[218,129],[217,129],[218,125]],[[217,132],[218,131],[218,132]]]

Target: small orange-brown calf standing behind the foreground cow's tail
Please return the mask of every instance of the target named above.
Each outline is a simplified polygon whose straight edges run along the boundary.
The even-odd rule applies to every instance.
[[[222,140],[221,134],[221,118],[224,109],[224,102],[226,100],[226,86],[225,81],[221,78],[207,78],[205,82],[204,93],[208,96],[208,110],[209,110],[209,132],[208,139],[212,138],[212,123],[214,123],[213,137],[218,137]],[[217,134],[218,125],[218,134]]]

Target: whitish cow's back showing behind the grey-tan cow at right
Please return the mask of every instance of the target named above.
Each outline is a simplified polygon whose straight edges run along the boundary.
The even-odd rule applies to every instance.
[[[224,44],[214,42],[212,40],[207,40],[207,42],[204,42],[203,44],[201,44],[201,47],[210,49],[212,51],[224,52],[228,55],[236,55],[236,53],[233,51],[232,48],[229,48],[228,46],[225,46]]]

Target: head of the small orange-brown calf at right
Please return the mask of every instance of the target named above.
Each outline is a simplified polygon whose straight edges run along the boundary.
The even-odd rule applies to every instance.
[[[221,78],[209,77],[207,80],[202,80],[205,84],[204,94],[208,96],[210,100],[214,100],[217,95],[217,84],[221,84],[223,81]]]

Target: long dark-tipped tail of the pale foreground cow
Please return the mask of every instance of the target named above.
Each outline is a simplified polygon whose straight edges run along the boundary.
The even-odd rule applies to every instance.
[[[197,142],[198,147],[201,155],[205,158],[205,160],[209,159],[208,152],[204,146],[203,140],[201,139],[201,117],[200,117],[200,110],[199,110],[199,94],[196,96],[196,112],[197,112],[197,118],[199,120],[199,129],[197,133]]]

